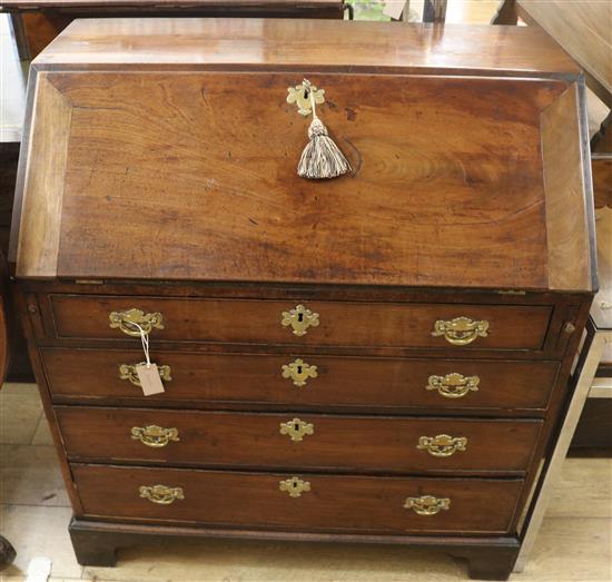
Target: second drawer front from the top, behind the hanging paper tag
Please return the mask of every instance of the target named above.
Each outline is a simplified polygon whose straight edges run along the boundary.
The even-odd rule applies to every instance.
[[[56,402],[145,402],[129,368],[142,351],[41,348]],[[249,403],[266,406],[544,408],[554,362],[395,359],[309,355],[151,352],[171,379],[156,405]],[[302,362],[299,362],[302,361]],[[286,367],[285,367],[286,366]],[[316,367],[316,369],[315,369]],[[167,376],[168,377],[168,376]]]

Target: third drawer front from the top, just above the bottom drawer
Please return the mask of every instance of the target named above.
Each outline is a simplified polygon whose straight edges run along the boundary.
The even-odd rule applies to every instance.
[[[540,421],[56,407],[69,458],[207,467],[521,473]]]

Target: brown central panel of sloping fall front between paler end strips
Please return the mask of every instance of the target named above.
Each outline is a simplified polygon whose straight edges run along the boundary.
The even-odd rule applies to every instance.
[[[300,76],[49,75],[71,102],[57,262],[20,276],[549,287],[540,114],[563,83],[318,75],[355,171],[317,183]]]

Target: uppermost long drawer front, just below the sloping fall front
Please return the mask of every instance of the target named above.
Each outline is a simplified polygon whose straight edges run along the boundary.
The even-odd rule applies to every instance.
[[[550,306],[76,295],[52,295],[51,306],[62,338],[126,339],[129,335],[117,319],[139,309],[162,316],[161,323],[152,319],[152,345],[167,339],[457,351],[541,349],[552,313]],[[115,327],[109,325],[110,314],[117,314]],[[145,322],[146,326],[151,318]],[[136,345],[138,338],[132,341]]]

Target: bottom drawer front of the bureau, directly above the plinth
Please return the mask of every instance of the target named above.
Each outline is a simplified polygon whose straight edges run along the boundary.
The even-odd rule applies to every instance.
[[[83,514],[89,517],[294,532],[507,533],[523,484],[514,480],[71,467]],[[426,495],[440,501],[427,504],[421,500]],[[419,511],[428,507],[433,512],[437,506],[438,512],[421,515],[412,507],[415,504]]]

